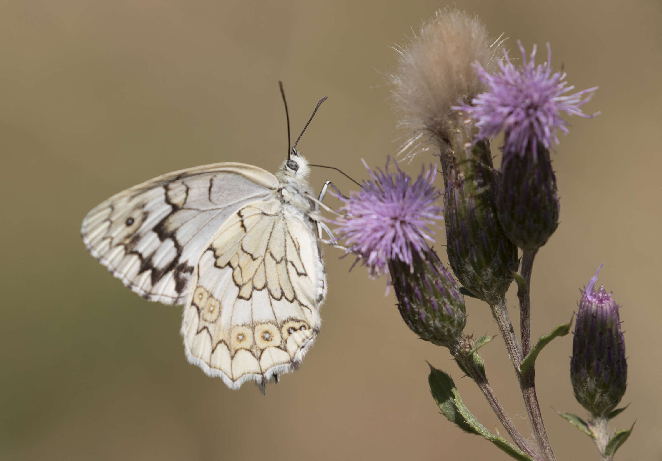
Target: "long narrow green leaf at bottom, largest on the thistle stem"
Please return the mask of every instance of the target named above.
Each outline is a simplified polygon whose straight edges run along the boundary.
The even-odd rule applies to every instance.
[[[428,365],[430,364],[428,363]],[[516,460],[533,461],[530,456],[508,442],[508,440],[494,435],[478,422],[476,417],[471,414],[471,411],[465,407],[459,396],[459,392],[457,392],[455,383],[453,383],[453,380],[448,374],[430,365],[428,382],[430,383],[432,398],[437,403],[442,414],[448,418],[448,421],[455,423],[457,427],[469,434],[482,435]]]

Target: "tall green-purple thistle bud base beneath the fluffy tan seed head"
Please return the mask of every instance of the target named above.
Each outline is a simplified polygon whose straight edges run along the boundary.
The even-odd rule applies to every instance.
[[[483,301],[496,304],[508,291],[519,260],[517,247],[496,217],[489,144],[472,145],[472,127],[468,123],[458,128],[453,150],[442,150],[446,252],[457,280]]]

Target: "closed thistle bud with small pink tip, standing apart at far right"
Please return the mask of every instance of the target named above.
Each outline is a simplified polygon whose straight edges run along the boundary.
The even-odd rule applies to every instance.
[[[577,401],[594,417],[604,418],[625,393],[628,364],[619,306],[602,285],[593,291],[600,268],[579,301],[570,378]]]

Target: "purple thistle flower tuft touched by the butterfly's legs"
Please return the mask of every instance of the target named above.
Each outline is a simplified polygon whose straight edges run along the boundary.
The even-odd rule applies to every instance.
[[[371,276],[388,271],[389,260],[399,260],[413,269],[413,253],[429,248],[434,241],[430,225],[442,219],[442,207],[437,204],[441,196],[433,184],[436,170],[431,167],[412,183],[408,174],[395,162],[397,172],[365,168],[372,179],[363,181],[363,188],[351,192],[340,208],[343,217],[336,219],[338,238],[344,239],[348,253],[359,256]]]

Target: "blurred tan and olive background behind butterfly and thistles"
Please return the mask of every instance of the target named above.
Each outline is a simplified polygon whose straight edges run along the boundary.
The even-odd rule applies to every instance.
[[[275,171],[293,134],[329,99],[299,147],[312,162],[365,177],[397,150],[380,72],[392,44],[444,3],[411,1],[5,1],[0,5],[3,257],[0,458],[7,460],[508,459],[442,417],[425,360],[448,370],[491,430],[498,421],[446,350],[401,321],[385,280],[328,249],[324,327],[301,369],[262,397],[231,391],[187,363],[181,307],[148,303],[85,252],[79,225],[114,193],[159,174],[241,161]],[[577,89],[599,85],[561,138],[561,225],[536,260],[534,337],[570,318],[598,265],[622,303],[630,408],[618,460],[661,460],[659,337],[662,4],[458,1],[496,36],[551,42]],[[542,53],[540,56],[544,55]],[[418,172],[417,158],[408,168]],[[334,179],[316,170],[312,183]],[[334,199],[328,203],[337,206]],[[443,235],[443,230],[440,235]],[[439,244],[443,244],[440,238]],[[518,317],[514,289],[511,315]],[[496,334],[467,301],[468,331]],[[559,460],[597,460],[553,409],[585,412],[569,381],[572,336],[537,371]],[[483,349],[489,378],[526,435],[502,340]],[[501,429],[501,432],[505,431]]]

